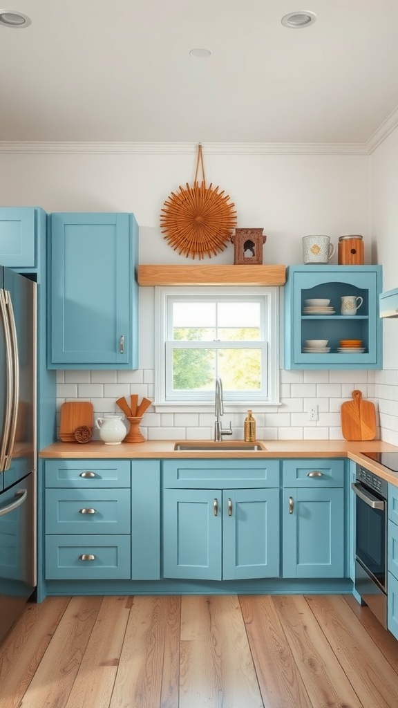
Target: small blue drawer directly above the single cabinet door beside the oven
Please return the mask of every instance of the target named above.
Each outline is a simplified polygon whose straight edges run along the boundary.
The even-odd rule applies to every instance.
[[[285,459],[283,461],[284,487],[342,487],[344,486],[344,460],[319,457],[311,459]],[[320,474],[314,474],[319,472]]]

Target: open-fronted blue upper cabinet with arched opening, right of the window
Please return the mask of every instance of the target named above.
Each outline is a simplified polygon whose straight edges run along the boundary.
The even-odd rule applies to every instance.
[[[381,265],[290,265],[285,285],[285,369],[381,369]],[[341,297],[363,299],[341,314]],[[306,300],[329,300],[324,312]],[[360,300],[358,300],[360,302]],[[339,351],[341,340],[360,340],[357,351]],[[328,351],[309,352],[308,340],[327,340]]]

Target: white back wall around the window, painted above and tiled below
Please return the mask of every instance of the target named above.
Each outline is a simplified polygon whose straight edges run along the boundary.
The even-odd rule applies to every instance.
[[[39,147],[40,149],[40,147]],[[0,153],[1,204],[41,206],[54,211],[134,212],[140,225],[141,263],[186,263],[159,229],[164,201],[178,185],[192,183],[195,146],[157,152]],[[248,151],[249,152],[249,151]],[[207,183],[219,185],[234,202],[238,227],[263,227],[264,263],[302,263],[301,238],[327,234],[337,246],[341,234],[363,234],[365,263],[370,243],[370,158],[360,154],[243,154],[231,146],[220,152],[204,147]],[[374,250],[374,249],[373,249]],[[337,251],[337,248],[336,248]],[[193,261],[189,261],[192,263]],[[198,261],[195,261],[196,263]],[[209,259],[233,263],[233,246]],[[378,262],[381,262],[380,260]],[[337,256],[331,259],[337,263]],[[91,399],[96,413],[115,412],[115,399],[153,393],[153,290],[140,289],[140,370],[137,372],[60,372],[58,404]],[[368,396],[373,375],[359,372],[281,372],[279,409],[256,415],[260,438],[341,438],[340,406],[354,387]],[[319,421],[309,423],[307,409],[319,404]],[[149,438],[206,437],[214,416],[148,412]],[[232,414],[241,438],[244,416]]]

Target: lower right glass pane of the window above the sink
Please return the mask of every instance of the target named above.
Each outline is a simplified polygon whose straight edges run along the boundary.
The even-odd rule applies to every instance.
[[[261,389],[260,349],[219,349],[217,374],[227,391],[259,391]]]

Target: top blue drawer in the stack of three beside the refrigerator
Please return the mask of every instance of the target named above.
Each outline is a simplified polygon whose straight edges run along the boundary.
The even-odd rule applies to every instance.
[[[46,487],[129,487],[130,459],[46,459]]]

